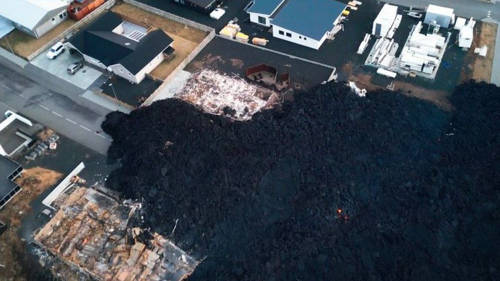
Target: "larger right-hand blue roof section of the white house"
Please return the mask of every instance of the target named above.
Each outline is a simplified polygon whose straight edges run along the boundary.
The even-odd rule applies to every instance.
[[[271,24],[321,40],[346,6],[335,0],[289,0]]]

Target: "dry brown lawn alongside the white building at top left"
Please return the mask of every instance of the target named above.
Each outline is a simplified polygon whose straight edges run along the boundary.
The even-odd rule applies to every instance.
[[[0,39],[0,46],[7,51],[10,51],[9,45],[7,44],[8,41],[14,53],[16,53],[20,57],[28,58],[28,56],[39,50],[41,47],[45,46],[50,40],[59,36],[59,34],[73,26],[75,23],[76,21],[68,18],[67,20],[63,21],[63,23],[59,24],[54,29],[38,39],[15,29],[14,31],[9,33],[9,35]]]

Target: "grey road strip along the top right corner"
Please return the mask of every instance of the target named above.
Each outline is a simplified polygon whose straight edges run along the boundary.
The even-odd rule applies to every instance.
[[[401,6],[425,7],[429,4],[450,7],[455,9],[455,14],[461,17],[473,16],[477,20],[486,18],[488,11],[491,17],[500,20],[500,1],[496,4],[480,0],[384,0],[383,2]]]

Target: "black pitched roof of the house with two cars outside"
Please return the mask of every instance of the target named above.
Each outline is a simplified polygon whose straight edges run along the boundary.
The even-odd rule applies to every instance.
[[[174,41],[162,30],[148,33],[139,42],[112,32],[122,22],[119,16],[107,12],[67,42],[107,67],[121,64],[135,75]]]

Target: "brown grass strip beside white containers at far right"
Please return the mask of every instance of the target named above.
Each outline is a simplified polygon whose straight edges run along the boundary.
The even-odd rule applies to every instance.
[[[493,56],[495,55],[495,37],[498,25],[492,23],[479,22],[476,24],[476,33],[472,47],[467,52],[465,63],[462,68],[461,80],[475,79],[478,81],[490,82],[491,69],[493,68]],[[488,46],[486,57],[474,54],[474,48]]]

